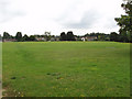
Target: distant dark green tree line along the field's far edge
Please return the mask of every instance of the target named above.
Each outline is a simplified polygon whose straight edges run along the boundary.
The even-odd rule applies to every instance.
[[[62,32],[61,35],[57,36],[58,41],[82,41],[85,37],[95,37],[92,41],[114,41],[120,42],[120,34],[116,32],[111,32],[110,34],[106,33],[86,33],[85,35],[74,35],[73,31],[68,31],[67,33]],[[3,32],[2,40],[15,40],[16,42],[30,42],[30,41],[38,41],[37,38],[45,38],[45,41],[56,41],[56,35],[51,35],[51,32],[45,32],[43,35],[30,35],[24,34],[22,36],[22,32],[16,32],[15,36],[10,35],[8,32]],[[40,40],[41,41],[41,40]],[[42,40],[43,41],[43,40]]]

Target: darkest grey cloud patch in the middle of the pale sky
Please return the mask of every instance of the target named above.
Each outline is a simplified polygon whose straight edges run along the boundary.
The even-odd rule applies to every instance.
[[[78,15],[79,15],[79,13],[78,13]],[[70,20],[70,22],[65,22],[65,18],[66,16],[63,15],[59,19],[59,22],[62,22],[62,25],[64,25],[65,28],[70,28],[70,29],[89,29],[99,20],[100,14],[96,10],[88,10],[88,11],[86,11],[82,14],[82,16],[81,16],[79,22],[73,22],[72,20]]]

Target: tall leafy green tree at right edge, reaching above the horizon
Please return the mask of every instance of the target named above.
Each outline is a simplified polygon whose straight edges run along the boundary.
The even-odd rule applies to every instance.
[[[120,26],[120,41],[132,42],[132,1],[127,1],[121,7],[125,10],[127,14],[114,19]]]

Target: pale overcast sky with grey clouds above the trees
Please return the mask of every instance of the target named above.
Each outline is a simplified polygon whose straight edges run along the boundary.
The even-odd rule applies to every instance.
[[[0,0],[0,34],[118,32],[122,0]]]

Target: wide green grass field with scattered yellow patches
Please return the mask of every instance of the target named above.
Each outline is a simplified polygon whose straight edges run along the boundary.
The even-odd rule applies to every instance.
[[[3,43],[3,88],[21,97],[129,97],[130,44]]]

